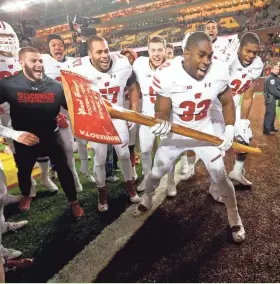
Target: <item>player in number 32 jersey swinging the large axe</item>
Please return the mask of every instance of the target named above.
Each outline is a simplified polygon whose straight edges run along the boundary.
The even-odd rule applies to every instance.
[[[204,162],[211,178],[222,192],[233,239],[240,243],[245,239],[245,230],[238,213],[234,187],[226,175],[222,155],[223,151],[231,147],[234,139],[234,101],[228,87],[228,65],[212,60],[212,55],[209,36],[204,32],[195,32],[187,40],[183,62],[167,62],[154,74],[153,88],[158,93],[155,109],[162,122],[153,126],[151,131],[163,139],[156,152],[145,194],[134,211],[134,216],[138,217],[151,209],[152,197],[160,179],[181,153],[193,150]],[[214,134],[209,107],[216,98],[221,102],[226,125],[224,141],[219,146],[169,133],[169,121],[172,121]]]

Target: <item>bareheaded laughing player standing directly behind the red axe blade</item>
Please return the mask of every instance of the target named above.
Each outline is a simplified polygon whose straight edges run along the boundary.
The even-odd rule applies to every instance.
[[[123,107],[124,88],[130,93],[131,110],[138,110],[138,90],[135,76],[128,59],[121,54],[110,54],[107,41],[100,36],[92,36],[88,40],[89,56],[77,59],[73,63],[72,71],[88,77],[99,93],[116,106]],[[129,131],[126,121],[113,119],[113,124],[122,140],[121,145],[114,145],[120,168],[125,180],[126,193],[133,203],[140,202],[132,181],[132,166],[128,148]],[[133,126],[132,126],[133,127]],[[94,150],[94,174],[99,192],[99,211],[108,210],[107,187],[105,184],[105,163],[107,145],[90,142]]]

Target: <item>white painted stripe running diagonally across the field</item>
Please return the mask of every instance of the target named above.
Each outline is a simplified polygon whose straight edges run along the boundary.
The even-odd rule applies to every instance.
[[[175,183],[180,181],[179,168],[175,167]],[[107,226],[77,254],[66,266],[50,279],[49,283],[90,283],[110,263],[115,254],[122,249],[129,239],[142,227],[150,215],[166,198],[167,175],[161,180],[153,197],[153,208],[139,218],[133,218],[132,212],[137,205],[132,205],[112,224]]]

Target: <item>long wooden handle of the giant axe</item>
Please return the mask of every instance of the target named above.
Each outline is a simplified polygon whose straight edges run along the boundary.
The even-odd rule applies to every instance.
[[[105,101],[105,100],[104,100]],[[106,108],[109,112],[109,114],[111,115],[112,118],[117,118],[117,119],[121,119],[121,120],[126,120],[126,121],[130,121],[130,122],[134,122],[134,123],[138,123],[138,124],[142,124],[142,125],[146,125],[146,126],[154,126],[155,124],[161,122],[162,120],[151,117],[151,116],[147,116],[138,112],[134,112],[131,110],[127,110],[127,109],[118,109],[118,108],[114,108],[111,107],[110,103],[107,104],[105,102]],[[209,143],[212,143],[214,145],[220,145],[223,140],[221,140],[220,138],[213,136],[213,135],[209,135],[197,130],[193,130],[191,128],[185,127],[185,126],[181,126],[175,123],[172,123],[172,127],[171,127],[171,132],[176,133],[176,134],[180,134],[183,136],[187,136],[187,137],[191,137],[194,138],[196,140],[202,140],[202,141],[206,141]],[[245,153],[249,153],[249,154],[254,154],[254,155],[261,155],[262,151],[259,148],[253,148],[253,147],[249,147],[246,145],[242,145],[240,143],[236,143],[233,142],[232,144],[232,148],[238,152],[245,152]]]

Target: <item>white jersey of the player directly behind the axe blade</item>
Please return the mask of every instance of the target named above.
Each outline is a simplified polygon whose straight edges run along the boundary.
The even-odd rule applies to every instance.
[[[132,67],[128,59],[120,54],[111,54],[112,66],[106,73],[94,68],[88,56],[77,59],[71,71],[87,77],[93,81],[93,86],[111,103],[124,106],[124,88],[132,74]]]

